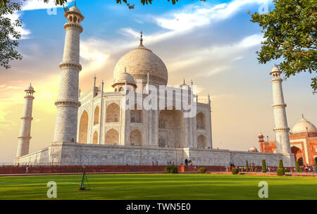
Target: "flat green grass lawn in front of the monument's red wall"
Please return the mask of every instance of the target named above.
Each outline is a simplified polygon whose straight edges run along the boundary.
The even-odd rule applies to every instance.
[[[57,199],[317,199],[316,177],[254,175],[87,175],[90,191],[79,191],[81,175],[0,177],[0,199],[47,199],[46,183],[57,183]]]

